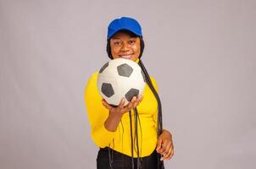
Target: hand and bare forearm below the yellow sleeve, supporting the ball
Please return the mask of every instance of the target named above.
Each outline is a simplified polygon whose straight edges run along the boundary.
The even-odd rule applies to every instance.
[[[132,97],[131,101],[128,105],[125,106],[125,98],[120,101],[120,105],[117,107],[110,106],[107,101],[103,100],[103,106],[109,109],[109,117],[106,119],[104,126],[110,132],[116,131],[120,120],[125,114],[125,112],[129,112],[132,108],[135,108],[142,101],[142,95]]]

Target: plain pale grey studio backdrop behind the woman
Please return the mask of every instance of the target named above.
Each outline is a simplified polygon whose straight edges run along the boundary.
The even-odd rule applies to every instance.
[[[174,135],[166,168],[255,168],[253,0],[0,0],[0,168],[96,168],[84,89],[122,15],[142,24]]]

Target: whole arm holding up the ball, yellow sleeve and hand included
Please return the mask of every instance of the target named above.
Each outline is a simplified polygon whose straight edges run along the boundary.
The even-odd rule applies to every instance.
[[[124,106],[125,101],[121,101],[118,107],[109,106],[99,95],[97,74],[93,74],[86,85],[85,101],[92,128],[92,139],[97,146],[103,148],[114,139],[122,115],[137,106],[142,101],[142,97],[134,97],[126,106]]]

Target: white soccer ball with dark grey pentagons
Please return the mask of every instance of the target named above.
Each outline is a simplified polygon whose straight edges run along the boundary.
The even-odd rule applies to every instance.
[[[97,89],[112,106],[118,106],[123,97],[127,105],[133,96],[142,94],[145,85],[142,68],[125,58],[115,58],[105,63],[97,76]]]

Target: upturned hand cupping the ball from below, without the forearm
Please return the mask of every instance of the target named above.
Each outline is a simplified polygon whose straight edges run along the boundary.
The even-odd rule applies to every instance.
[[[120,115],[122,116],[125,112],[131,111],[131,109],[135,108],[142,101],[142,95],[138,95],[138,97],[132,97],[131,101],[125,106],[125,98],[122,98],[119,106],[110,106],[107,101],[103,99],[103,106],[109,109],[110,114]]]

